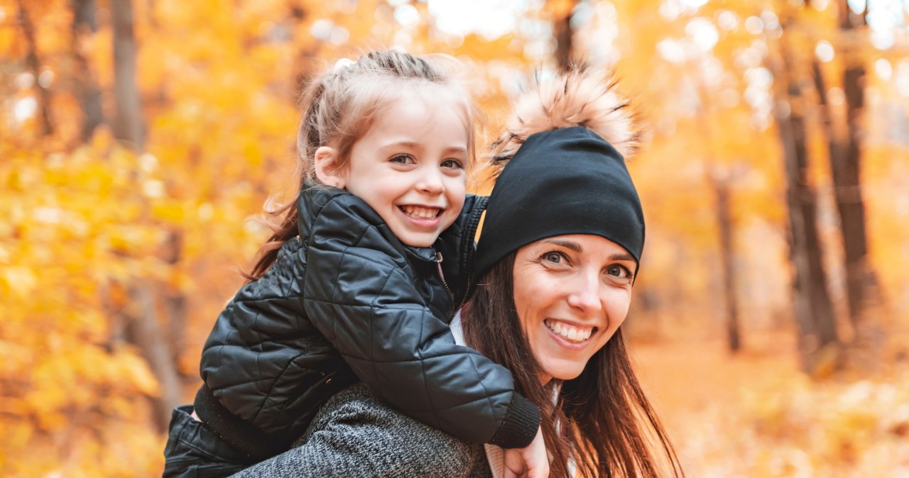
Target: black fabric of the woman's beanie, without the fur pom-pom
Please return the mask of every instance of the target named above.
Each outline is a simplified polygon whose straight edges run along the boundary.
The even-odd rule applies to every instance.
[[[476,247],[474,277],[539,239],[593,234],[639,262],[644,211],[615,148],[584,128],[532,134],[495,181]]]

